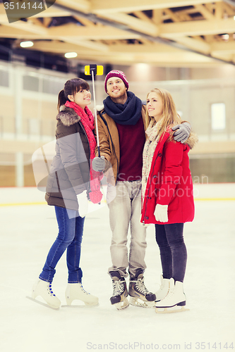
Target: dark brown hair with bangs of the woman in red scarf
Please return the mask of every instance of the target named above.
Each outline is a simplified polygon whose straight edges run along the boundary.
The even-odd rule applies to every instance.
[[[74,96],[80,89],[90,89],[90,85],[82,78],[72,78],[71,80],[68,80],[64,84],[64,89],[62,89],[58,95],[58,111],[61,105],[64,105],[67,100],[70,101],[68,95]]]

